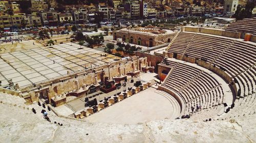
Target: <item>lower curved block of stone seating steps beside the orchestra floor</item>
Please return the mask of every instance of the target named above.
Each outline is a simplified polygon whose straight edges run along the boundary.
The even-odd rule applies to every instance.
[[[170,63],[173,63],[173,66],[175,65],[173,61]],[[184,74],[184,71],[186,71],[186,74]],[[174,71],[166,77],[163,85],[179,93],[187,104],[186,111],[197,104],[203,108],[216,106],[222,103],[223,100],[223,90],[214,77],[185,64],[179,63]]]

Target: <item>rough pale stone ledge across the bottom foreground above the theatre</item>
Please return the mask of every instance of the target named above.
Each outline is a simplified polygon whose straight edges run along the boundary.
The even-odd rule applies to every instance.
[[[31,108],[37,111],[34,114]],[[42,107],[0,103],[0,142],[254,142],[255,115],[225,121],[159,120],[137,125],[42,118]],[[62,123],[63,126],[54,124]]]

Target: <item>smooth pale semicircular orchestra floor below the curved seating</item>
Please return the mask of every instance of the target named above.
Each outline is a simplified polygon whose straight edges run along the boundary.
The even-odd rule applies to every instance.
[[[99,123],[137,124],[179,116],[178,102],[167,99],[154,88],[148,88],[132,97],[114,104],[84,120]]]

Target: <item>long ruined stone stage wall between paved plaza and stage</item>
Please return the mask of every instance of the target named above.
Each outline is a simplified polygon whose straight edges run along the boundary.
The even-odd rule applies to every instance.
[[[124,69],[125,73],[128,73],[133,71],[133,67],[135,70],[140,69],[140,64],[142,67],[146,66],[146,61],[146,57],[134,57],[127,60],[114,61],[110,64],[97,67],[97,69],[94,68],[93,71],[84,70],[82,72],[56,78],[53,81],[46,82],[46,84],[41,83],[40,88],[27,88],[26,91],[23,91],[23,95],[29,93],[30,100],[28,102],[38,101],[40,95],[46,95],[49,101],[51,101],[50,99],[54,97],[55,94],[61,95],[62,93],[77,90],[82,88],[84,84],[88,86],[95,84],[95,77],[97,77],[97,82],[100,82],[101,76],[109,76],[109,71],[111,78],[116,77],[119,76],[120,73],[124,74]],[[102,75],[102,73],[104,73],[104,75]],[[78,87],[76,85],[76,80],[78,81]]]

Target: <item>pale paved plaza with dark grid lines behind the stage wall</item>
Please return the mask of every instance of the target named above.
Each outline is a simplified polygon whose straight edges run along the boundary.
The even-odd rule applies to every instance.
[[[2,84],[8,84],[8,80],[12,79],[19,87],[26,87],[65,75],[68,70],[78,71],[120,59],[92,48],[79,48],[78,44],[65,43],[53,45],[51,48],[40,47],[2,53],[0,80]]]

